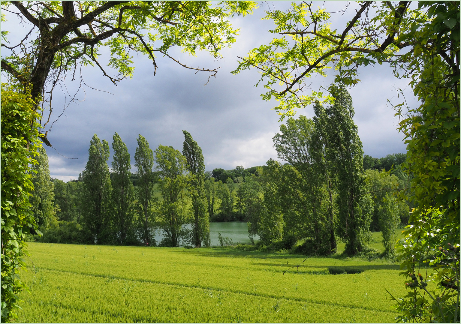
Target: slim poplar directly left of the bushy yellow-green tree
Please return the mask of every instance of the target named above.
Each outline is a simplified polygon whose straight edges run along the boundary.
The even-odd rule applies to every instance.
[[[145,246],[155,246],[154,219],[152,215],[152,193],[154,190],[154,152],[149,147],[148,141],[139,135],[138,147],[135,153],[135,166],[138,169],[136,199],[138,201],[138,229],[142,243]]]

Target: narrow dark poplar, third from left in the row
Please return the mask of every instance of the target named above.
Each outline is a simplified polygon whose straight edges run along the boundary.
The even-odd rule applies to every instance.
[[[113,136],[112,149],[112,204],[115,209],[114,226],[120,244],[126,244],[133,228],[134,187],[131,183],[130,153],[120,136]]]

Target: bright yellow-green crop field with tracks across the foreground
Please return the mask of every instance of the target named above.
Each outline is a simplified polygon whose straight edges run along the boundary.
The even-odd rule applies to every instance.
[[[385,260],[229,248],[29,243],[19,322],[392,322],[403,295]],[[360,273],[330,274],[329,268]],[[344,272],[344,271],[343,271]],[[357,272],[357,271],[355,271]]]

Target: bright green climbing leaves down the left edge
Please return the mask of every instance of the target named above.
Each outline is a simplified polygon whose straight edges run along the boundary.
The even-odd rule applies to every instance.
[[[1,320],[17,319],[18,293],[29,290],[19,277],[29,255],[26,234],[38,233],[29,201],[33,190],[30,164],[40,147],[39,117],[29,94],[1,84]]]

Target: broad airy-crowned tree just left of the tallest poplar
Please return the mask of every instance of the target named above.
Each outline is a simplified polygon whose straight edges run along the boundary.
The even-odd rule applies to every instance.
[[[325,159],[330,139],[320,131],[325,126],[301,115],[289,118],[273,138],[278,158],[288,162],[281,166],[278,180],[285,232],[297,239],[308,238],[313,243],[309,248],[318,254],[336,252],[333,194],[328,183],[331,170]]]

